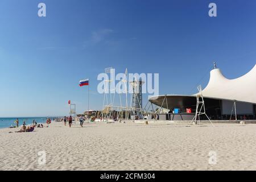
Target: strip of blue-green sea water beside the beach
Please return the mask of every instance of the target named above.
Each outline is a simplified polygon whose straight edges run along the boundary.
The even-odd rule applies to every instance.
[[[0,118],[0,128],[10,127],[11,125],[16,126],[16,123],[14,123],[16,119],[17,118]],[[47,117],[34,117],[34,118],[30,117],[30,118],[18,118],[18,119],[19,119],[19,127],[20,127],[22,126],[24,121],[26,125],[32,124],[34,119],[37,123],[45,123]],[[51,118],[51,120],[53,121],[53,118]]]

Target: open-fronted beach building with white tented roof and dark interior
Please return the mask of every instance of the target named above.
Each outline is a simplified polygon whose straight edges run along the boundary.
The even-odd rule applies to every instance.
[[[226,78],[214,64],[201,94],[210,119],[256,119],[256,64],[250,72],[235,79]],[[195,116],[196,96],[166,94],[150,97],[149,101],[168,110],[168,114],[159,114],[158,119],[190,120]]]

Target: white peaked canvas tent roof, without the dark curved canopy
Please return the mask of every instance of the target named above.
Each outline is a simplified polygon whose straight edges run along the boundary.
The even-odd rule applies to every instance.
[[[256,104],[256,64],[246,75],[235,79],[228,79],[222,75],[220,69],[213,69],[202,94],[204,97]]]

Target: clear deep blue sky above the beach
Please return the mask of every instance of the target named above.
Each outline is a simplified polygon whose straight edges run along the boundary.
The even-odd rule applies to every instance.
[[[97,76],[106,67],[159,73],[160,94],[195,93],[213,61],[236,78],[256,63],[255,20],[254,0],[1,0],[0,117],[68,114],[68,100],[82,113],[83,78],[90,109],[101,109]]]

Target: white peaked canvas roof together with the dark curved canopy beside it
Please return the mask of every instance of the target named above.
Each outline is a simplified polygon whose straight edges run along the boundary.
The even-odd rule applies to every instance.
[[[199,94],[199,93],[197,93]],[[166,95],[168,99],[168,106],[186,106],[196,102],[195,97],[184,95]],[[228,79],[222,75],[221,70],[216,68],[210,71],[210,80],[205,89],[202,90],[204,98],[216,99],[216,100],[230,100],[249,102],[256,104],[256,64],[250,72],[245,75]],[[168,107],[164,102],[164,95],[152,96],[149,98],[153,104],[163,107]]]

